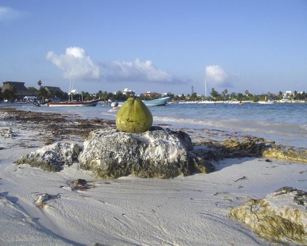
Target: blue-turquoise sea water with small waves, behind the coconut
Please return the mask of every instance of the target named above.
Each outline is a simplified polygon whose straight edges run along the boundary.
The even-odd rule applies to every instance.
[[[84,118],[115,119],[111,107],[34,107],[25,110],[78,114]],[[153,124],[170,128],[217,129],[275,140],[279,144],[307,147],[307,104],[168,104],[149,107]]]

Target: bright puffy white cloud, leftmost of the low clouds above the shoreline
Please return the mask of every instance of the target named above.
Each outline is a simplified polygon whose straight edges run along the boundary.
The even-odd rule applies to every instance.
[[[93,63],[90,56],[87,56],[82,48],[70,47],[66,49],[65,54],[60,55],[49,51],[46,58],[64,71],[64,77],[69,77],[71,73],[75,78],[99,78],[99,67]]]

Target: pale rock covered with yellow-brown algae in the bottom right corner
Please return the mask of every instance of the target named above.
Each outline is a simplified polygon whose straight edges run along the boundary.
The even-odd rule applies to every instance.
[[[232,208],[230,217],[270,240],[307,245],[307,193],[283,187],[263,199]]]

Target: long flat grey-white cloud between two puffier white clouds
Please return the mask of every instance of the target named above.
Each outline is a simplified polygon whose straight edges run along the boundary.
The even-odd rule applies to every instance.
[[[176,80],[171,74],[158,69],[151,60],[111,61],[102,65],[105,79],[109,81],[152,81],[171,83]]]

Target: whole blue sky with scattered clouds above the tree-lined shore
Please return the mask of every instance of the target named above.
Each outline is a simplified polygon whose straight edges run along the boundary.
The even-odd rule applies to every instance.
[[[0,0],[0,83],[307,91],[307,0]]]

